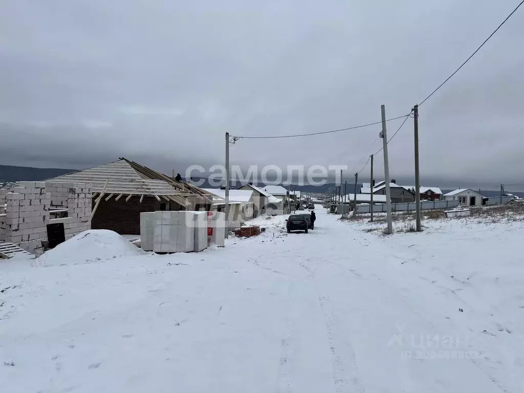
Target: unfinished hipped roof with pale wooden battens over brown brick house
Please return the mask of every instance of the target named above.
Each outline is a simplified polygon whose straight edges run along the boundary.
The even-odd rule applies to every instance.
[[[121,158],[93,168],[62,174],[47,181],[62,181],[89,184],[94,193],[109,194],[106,199],[122,195],[149,195],[188,204],[187,197],[196,197],[211,202],[211,196],[195,185],[178,182],[154,169],[134,161]],[[161,197],[161,198],[160,198]]]

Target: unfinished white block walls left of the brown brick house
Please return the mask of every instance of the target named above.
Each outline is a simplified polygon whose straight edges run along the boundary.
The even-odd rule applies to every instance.
[[[6,242],[32,252],[47,240],[47,224],[62,222],[66,238],[91,229],[91,190],[86,184],[21,181],[10,191],[6,214],[0,217],[0,236]],[[61,203],[54,207],[67,208],[68,217],[51,219],[51,200]]]

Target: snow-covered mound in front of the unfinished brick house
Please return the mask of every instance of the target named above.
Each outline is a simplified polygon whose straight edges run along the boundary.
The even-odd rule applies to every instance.
[[[90,230],[79,233],[37,259],[41,265],[71,265],[117,257],[131,257],[144,252],[116,232]]]

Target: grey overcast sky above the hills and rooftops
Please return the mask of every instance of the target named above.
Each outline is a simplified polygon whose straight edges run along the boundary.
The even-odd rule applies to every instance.
[[[407,114],[517,3],[4,0],[0,164],[85,168],[125,156],[182,173],[223,163],[226,130],[350,127],[379,121],[380,104],[387,117]],[[524,7],[420,107],[423,185],[524,182],[522,48]],[[379,130],[241,139],[231,161],[347,165],[352,176],[380,148]],[[389,162],[392,178],[414,182],[412,119]],[[379,155],[376,178],[382,165]]]

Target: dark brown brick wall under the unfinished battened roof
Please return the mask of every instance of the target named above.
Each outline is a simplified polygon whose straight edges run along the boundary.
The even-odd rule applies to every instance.
[[[93,208],[95,203],[96,198],[92,200]],[[158,201],[153,196],[144,196],[142,203],[140,196],[133,196],[127,202],[125,195],[118,201],[115,198],[108,201],[102,199],[91,221],[91,228],[111,230],[120,235],[139,235],[140,213],[161,210],[162,203],[166,204],[167,210],[183,210],[176,202]]]

